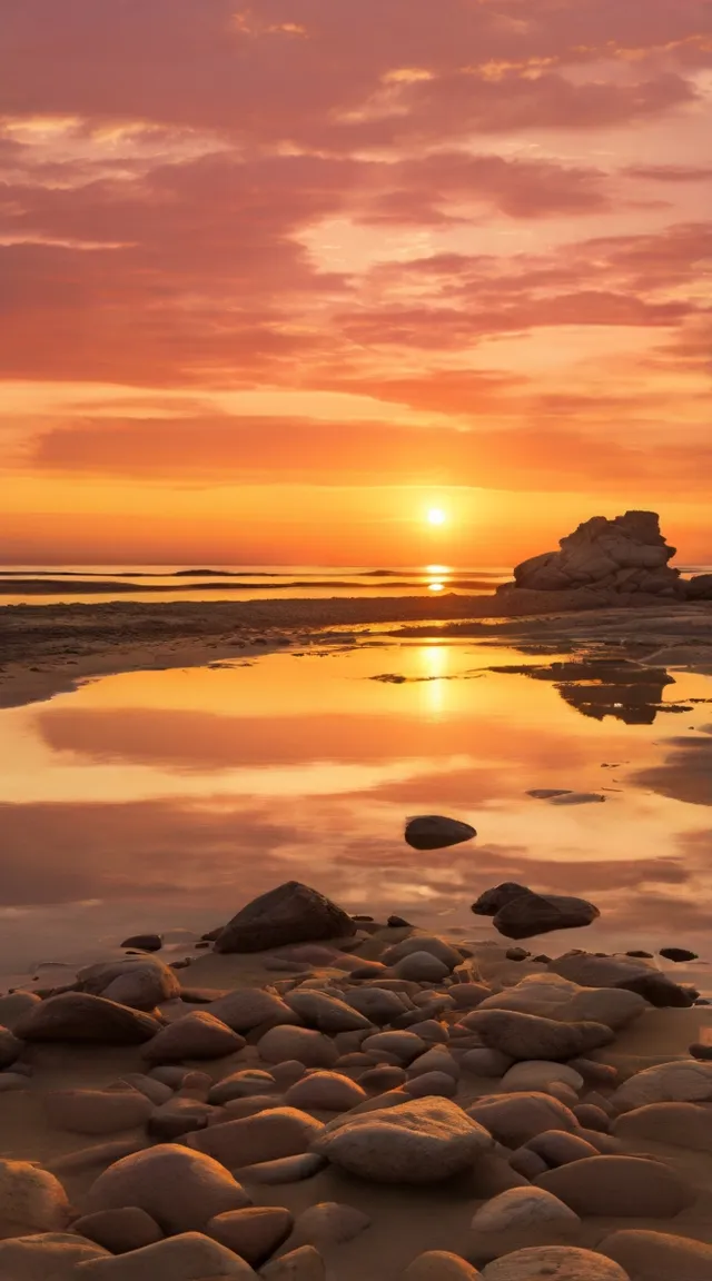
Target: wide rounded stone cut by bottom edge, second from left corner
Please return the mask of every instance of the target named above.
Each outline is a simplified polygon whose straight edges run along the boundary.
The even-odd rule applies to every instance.
[[[168,1241],[146,1245],[118,1258],[91,1259],[77,1268],[77,1281],[216,1281],[234,1277],[250,1281],[255,1273],[248,1263],[202,1232],[183,1232]]]

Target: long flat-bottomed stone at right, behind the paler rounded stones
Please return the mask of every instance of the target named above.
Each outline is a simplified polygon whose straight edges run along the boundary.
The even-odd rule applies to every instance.
[[[613,1040],[611,1029],[603,1024],[561,1024],[514,1009],[475,1009],[465,1016],[464,1024],[488,1049],[498,1049],[514,1059],[561,1061]]]

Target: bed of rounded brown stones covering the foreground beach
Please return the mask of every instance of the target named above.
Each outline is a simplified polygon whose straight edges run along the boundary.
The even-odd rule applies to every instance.
[[[0,1104],[37,1095],[65,1140],[0,1161],[1,1281],[711,1281],[686,1227],[712,1063],[613,1062],[659,1016],[621,985],[647,961],[508,961],[369,921],[263,959],[263,985],[183,986],[146,952],[0,998]],[[47,1089],[58,1062],[83,1084]],[[403,1196],[421,1243],[432,1205],[432,1248],[400,1241],[393,1271]]]

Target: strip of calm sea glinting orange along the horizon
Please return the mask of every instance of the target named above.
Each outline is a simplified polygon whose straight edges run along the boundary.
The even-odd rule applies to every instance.
[[[319,565],[0,567],[1,605],[60,605],[69,601],[259,601],[334,596],[483,594],[511,578],[506,566],[447,565],[364,567]]]

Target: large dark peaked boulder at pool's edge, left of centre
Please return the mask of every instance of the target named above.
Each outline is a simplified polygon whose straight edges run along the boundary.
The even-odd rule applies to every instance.
[[[247,903],[215,939],[216,952],[265,952],[291,943],[352,935],[341,907],[300,881],[286,881]]]

